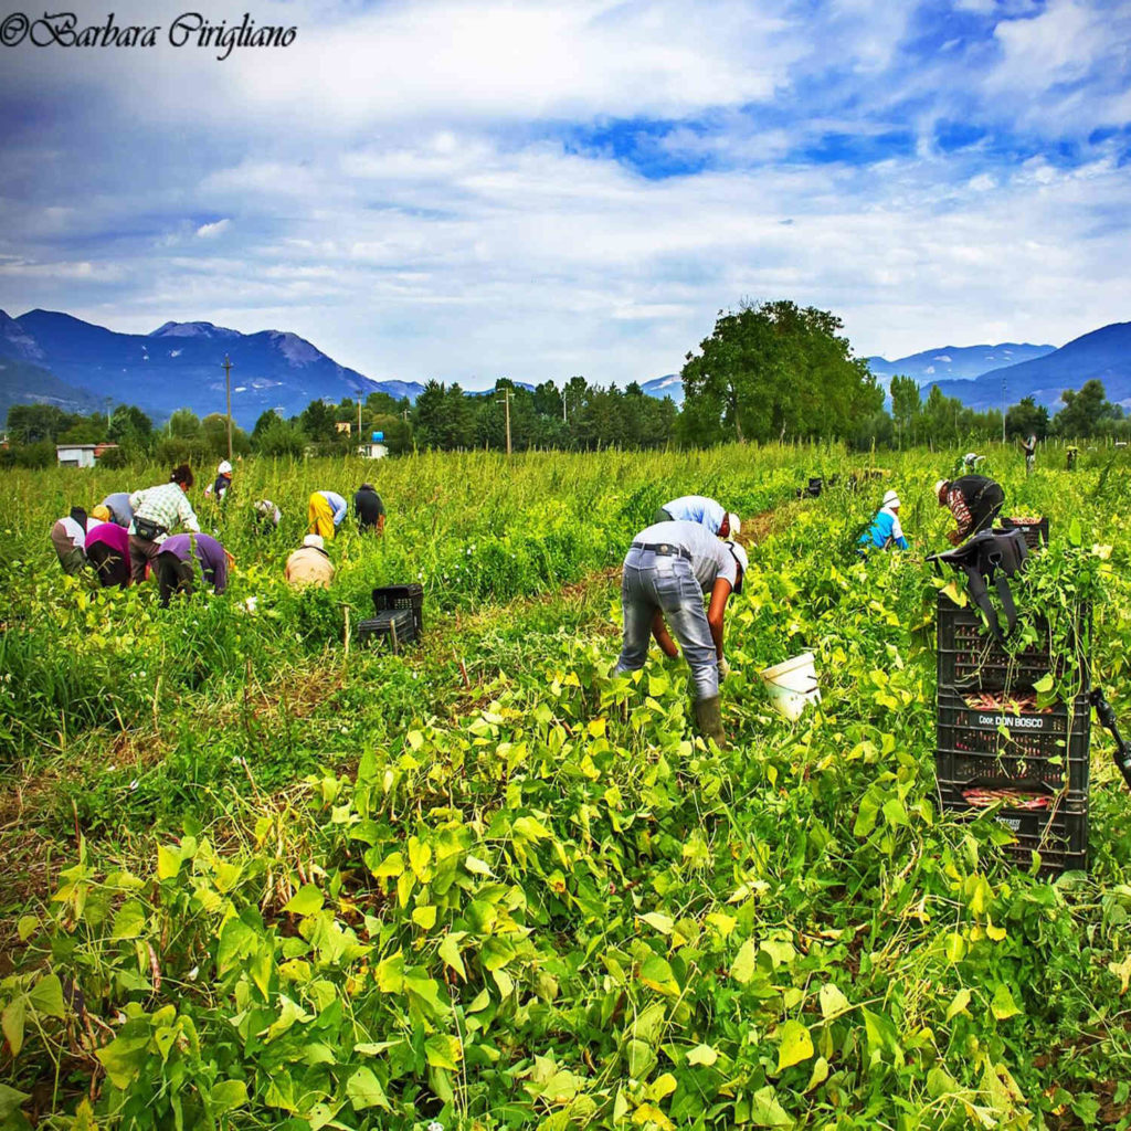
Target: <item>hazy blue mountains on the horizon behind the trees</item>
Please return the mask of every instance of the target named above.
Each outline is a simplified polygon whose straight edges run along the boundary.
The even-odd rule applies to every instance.
[[[339,402],[370,392],[413,402],[424,388],[417,381],[374,381],[282,330],[241,334],[211,322],[165,322],[149,334],[119,334],[54,311],[33,310],[14,319],[0,310],[0,420],[10,405],[27,402],[71,412],[124,402],[157,421],[180,407],[199,416],[224,412],[225,355],[232,361],[232,415],[249,429],[268,408],[293,416],[317,398]],[[999,407],[1004,379],[1008,403],[1031,396],[1055,411],[1064,389],[1090,378],[1104,382],[1111,400],[1131,407],[1131,322],[1102,327],[1060,348],[1028,343],[941,346],[895,361],[866,360],[884,386],[901,373],[921,383],[924,398],[938,385],[972,408]],[[653,397],[683,400],[677,373],[642,388]]]

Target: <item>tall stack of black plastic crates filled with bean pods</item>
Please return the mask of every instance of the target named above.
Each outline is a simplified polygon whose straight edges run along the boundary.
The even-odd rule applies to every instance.
[[[1067,654],[1054,655],[1047,622],[1015,654],[987,631],[972,606],[939,594],[939,691],[935,770],[947,812],[992,810],[1015,836],[1005,854],[1028,870],[1087,866],[1090,618],[1080,612]],[[1070,699],[1045,703],[1037,685],[1073,685]]]

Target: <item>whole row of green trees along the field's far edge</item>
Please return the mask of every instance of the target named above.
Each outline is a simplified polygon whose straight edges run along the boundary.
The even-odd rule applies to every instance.
[[[338,404],[312,400],[291,417],[265,412],[250,433],[233,428],[232,447],[238,455],[346,454],[380,432],[394,455],[414,449],[502,450],[508,415],[516,451],[815,439],[841,440],[856,449],[974,446],[1002,434],[999,411],[967,408],[938,387],[924,402],[909,377],[891,379],[887,408],[883,387],[867,363],[853,356],[841,329],[835,314],[788,301],[719,311],[711,335],[687,354],[682,409],[671,398],[648,396],[637,382],[619,389],[571,377],[561,386],[545,381],[529,388],[504,379],[484,394],[430,380],[415,404],[372,392],[360,406],[347,398]],[[1022,398],[1005,413],[1007,435],[1087,439],[1131,432],[1131,421],[1107,400],[1099,381],[1067,389],[1061,402],[1063,407],[1051,417],[1031,397]],[[109,416],[14,405],[7,430],[8,444],[0,451],[5,466],[49,466],[57,443],[119,444],[103,457],[104,465],[145,457],[199,463],[227,454],[226,417],[213,413],[200,420],[187,408],[156,428],[133,405],[119,405]]]

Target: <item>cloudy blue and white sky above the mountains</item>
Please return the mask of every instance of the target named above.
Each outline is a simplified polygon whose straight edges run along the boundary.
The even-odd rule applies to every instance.
[[[291,330],[465,388],[677,372],[748,301],[889,359],[1131,319],[1123,0],[58,8],[158,31],[0,46],[14,317]],[[0,42],[43,10],[0,0]],[[192,11],[293,42],[174,45]]]

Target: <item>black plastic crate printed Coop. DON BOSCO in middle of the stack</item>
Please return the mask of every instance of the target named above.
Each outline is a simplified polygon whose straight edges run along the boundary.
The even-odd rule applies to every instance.
[[[972,705],[982,692],[939,689],[935,774],[944,809],[972,785],[1018,782],[1087,796],[1091,706],[1087,696],[1046,711]]]

